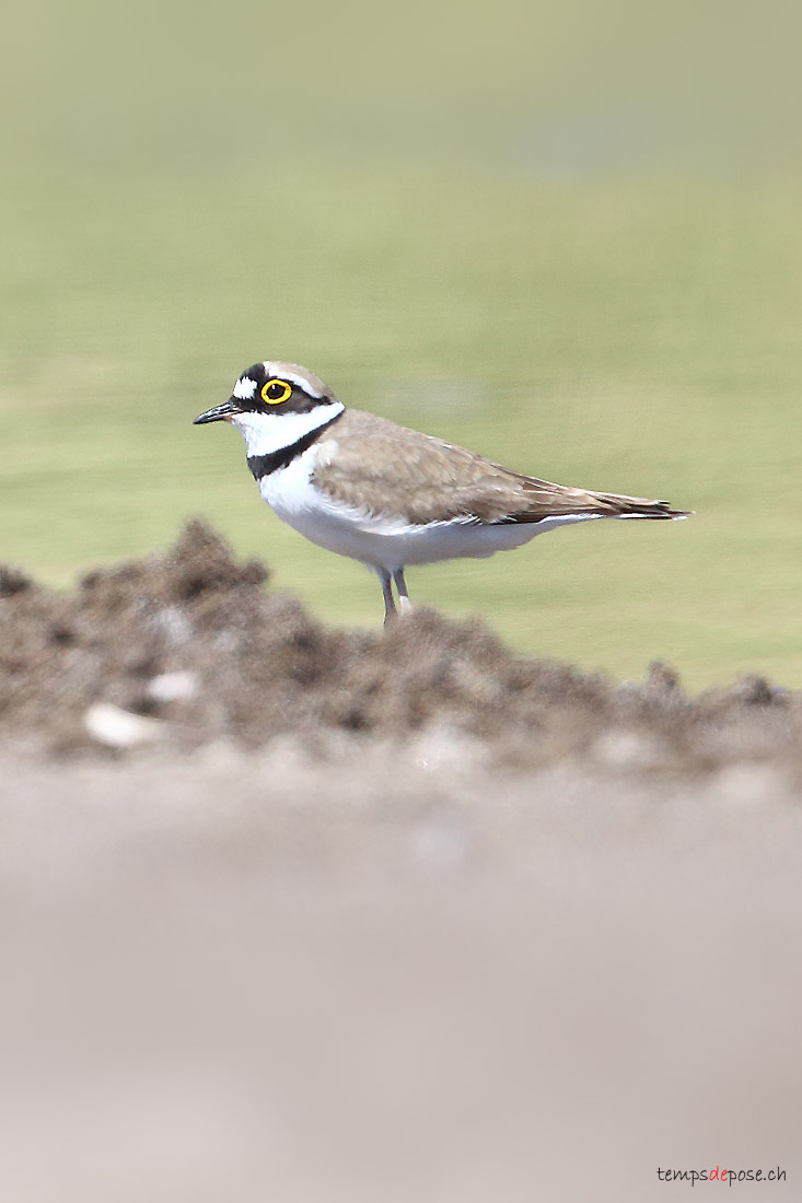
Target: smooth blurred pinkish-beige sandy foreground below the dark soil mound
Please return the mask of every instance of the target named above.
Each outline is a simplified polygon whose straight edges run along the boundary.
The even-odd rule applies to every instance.
[[[798,799],[461,752],[6,761],[0,1195],[796,1197]]]

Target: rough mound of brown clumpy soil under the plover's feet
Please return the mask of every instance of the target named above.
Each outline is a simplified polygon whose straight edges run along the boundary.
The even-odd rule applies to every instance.
[[[643,683],[618,685],[521,659],[483,623],[426,610],[388,630],[330,630],[267,579],[199,521],[166,555],[93,571],[71,593],[0,568],[2,742],[98,748],[88,715],[111,704],[178,748],[289,731],[314,747],[332,730],[405,739],[438,724],[512,763],[686,771],[795,759],[800,695],[763,680],[689,698],[655,664]]]

